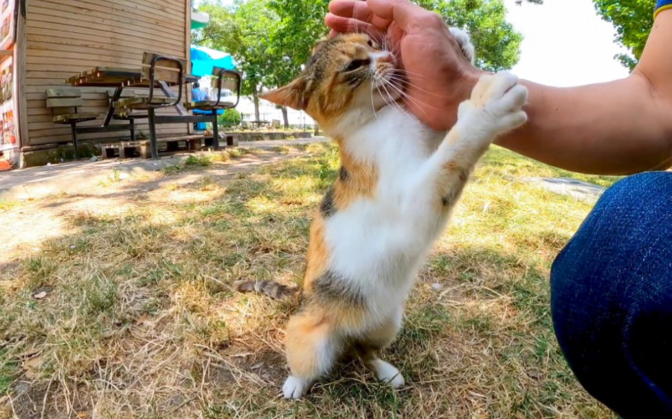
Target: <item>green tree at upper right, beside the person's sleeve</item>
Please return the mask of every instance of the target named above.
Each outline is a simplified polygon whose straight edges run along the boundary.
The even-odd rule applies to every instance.
[[[594,3],[602,19],[616,28],[614,42],[629,51],[614,58],[628,69],[634,69],[653,26],[656,0],[594,0]]]

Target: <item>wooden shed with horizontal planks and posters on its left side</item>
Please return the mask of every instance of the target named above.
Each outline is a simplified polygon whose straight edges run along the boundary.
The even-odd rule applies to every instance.
[[[6,131],[0,151],[16,165],[25,166],[25,157],[31,153],[70,141],[69,127],[52,122],[52,110],[45,100],[47,88],[66,86],[68,77],[93,67],[139,67],[145,52],[189,60],[190,0],[0,1],[6,4],[3,20],[10,16],[12,32],[3,41],[5,59],[0,71],[13,74],[7,87],[13,94],[0,98],[3,121],[8,120],[3,123]],[[10,77],[3,77],[3,82],[5,78]],[[80,89],[85,101],[80,112],[107,111],[113,89]],[[5,91],[4,84],[1,90]],[[12,115],[5,118],[8,113]],[[96,123],[100,121],[89,124]],[[146,129],[146,120],[139,121],[136,132],[142,135]],[[159,134],[187,134],[190,125],[160,125],[157,130]],[[128,133],[99,132],[81,139],[103,141],[124,135]]]

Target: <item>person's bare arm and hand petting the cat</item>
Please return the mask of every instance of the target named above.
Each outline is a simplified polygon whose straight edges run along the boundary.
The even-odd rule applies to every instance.
[[[385,33],[410,73],[406,106],[445,130],[480,71],[436,15],[407,0],[335,0],[326,23],[337,32]],[[355,16],[357,19],[355,19]],[[498,143],[544,163],[585,173],[627,174],[672,165],[672,10],[660,12],[635,71],[623,80],[554,88],[526,80],[528,123]],[[666,42],[667,41],[667,42]],[[427,56],[436,57],[432,66]],[[425,59],[421,59],[425,57]],[[433,92],[433,93],[429,93]]]

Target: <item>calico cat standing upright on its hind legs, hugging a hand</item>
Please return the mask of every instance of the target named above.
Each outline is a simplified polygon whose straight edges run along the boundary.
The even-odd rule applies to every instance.
[[[473,59],[467,34],[451,32]],[[296,80],[262,96],[311,115],[338,143],[341,160],[311,224],[302,287],[238,285],[301,293],[287,326],[285,398],[303,396],[352,350],[378,379],[404,385],[377,351],[401,328],[407,294],[474,165],[495,136],[526,121],[526,88],[502,72],[482,76],[456,125],[434,132],[401,108],[400,74],[394,55],[372,38],[344,34],[316,45]]]

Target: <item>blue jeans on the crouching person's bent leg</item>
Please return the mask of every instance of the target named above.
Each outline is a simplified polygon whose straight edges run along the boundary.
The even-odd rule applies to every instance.
[[[672,173],[615,184],[551,270],[560,347],[625,419],[672,418]]]

